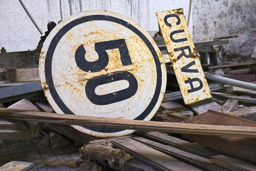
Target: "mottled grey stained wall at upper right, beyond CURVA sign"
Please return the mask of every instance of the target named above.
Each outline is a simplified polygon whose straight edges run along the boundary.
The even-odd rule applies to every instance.
[[[255,14],[255,0],[194,0],[194,40],[239,35],[225,48],[234,57],[250,59],[256,45]]]

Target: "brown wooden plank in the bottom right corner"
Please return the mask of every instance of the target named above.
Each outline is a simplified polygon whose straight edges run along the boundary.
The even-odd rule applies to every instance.
[[[230,170],[238,171],[238,170],[245,170],[245,171],[253,171],[256,170],[256,165],[251,164],[250,162],[246,162],[243,160],[239,160],[233,157],[219,155],[219,156],[212,156],[211,162],[216,165],[225,167]]]

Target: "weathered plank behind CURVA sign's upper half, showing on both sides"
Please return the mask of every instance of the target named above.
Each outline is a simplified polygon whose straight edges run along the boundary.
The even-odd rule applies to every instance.
[[[164,38],[163,36],[157,36],[157,37],[153,37],[154,41],[156,42],[157,46],[161,46],[164,45],[165,46],[165,42],[164,42]],[[229,40],[208,40],[208,41],[203,41],[203,42],[196,42],[194,43],[195,47],[199,47],[199,46],[215,46],[215,45],[223,45],[223,44],[229,44]]]

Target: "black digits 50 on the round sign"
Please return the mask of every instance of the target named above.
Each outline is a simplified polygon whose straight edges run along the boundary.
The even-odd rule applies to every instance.
[[[75,52],[75,60],[77,66],[85,72],[99,72],[108,65],[109,56],[106,50],[118,48],[120,59],[123,66],[132,64],[131,57],[125,42],[125,39],[110,40],[106,42],[97,42],[94,45],[94,50],[98,53],[99,58],[97,61],[89,62],[85,59],[85,48],[80,45]],[[99,85],[113,83],[119,80],[127,80],[129,87],[120,91],[109,93],[105,95],[97,95],[95,88]],[[138,89],[137,79],[128,71],[111,72],[106,75],[94,77],[87,81],[85,85],[85,93],[87,98],[94,104],[106,105],[122,100],[129,99],[133,96]]]

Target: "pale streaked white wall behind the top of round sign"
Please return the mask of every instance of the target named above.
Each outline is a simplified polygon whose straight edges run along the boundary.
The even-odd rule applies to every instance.
[[[86,10],[108,10],[125,15],[147,31],[158,31],[155,12],[183,7],[188,16],[189,0],[22,0],[43,32],[47,22],[58,22]],[[34,50],[40,34],[18,0],[0,1],[0,47],[7,52]],[[191,14],[193,11],[191,11]],[[192,31],[193,18],[190,17]],[[190,32],[191,32],[190,31]]]

